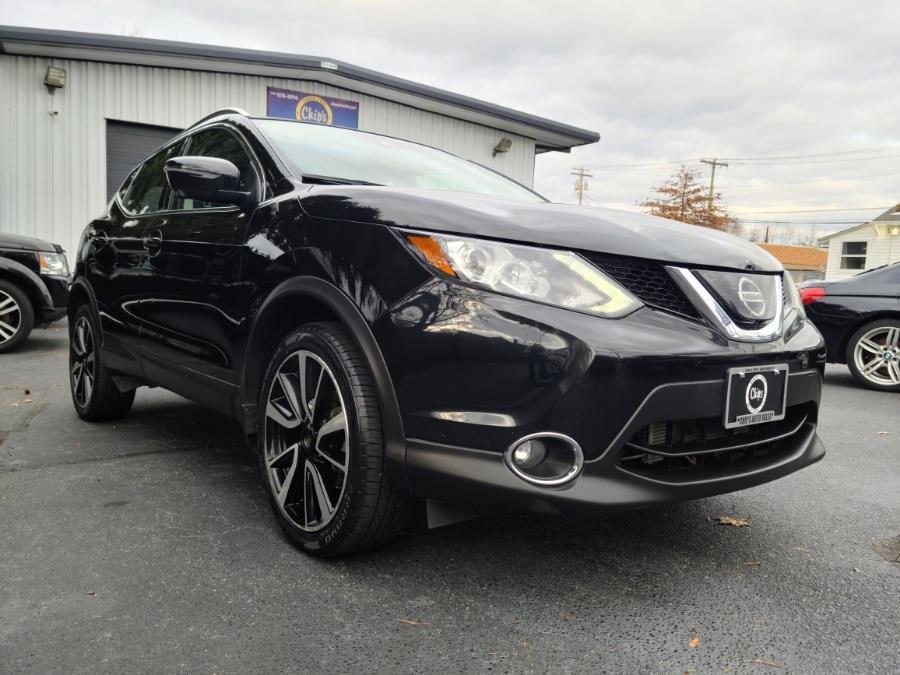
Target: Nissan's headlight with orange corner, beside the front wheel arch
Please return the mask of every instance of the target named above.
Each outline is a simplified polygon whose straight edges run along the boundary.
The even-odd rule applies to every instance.
[[[404,236],[433,269],[497,293],[610,318],[641,306],[631,293],[569,251],[454,235]]]

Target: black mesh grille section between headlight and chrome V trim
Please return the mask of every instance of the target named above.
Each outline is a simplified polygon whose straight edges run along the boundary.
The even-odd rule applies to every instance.
[[[645,305],[693,319],[700,318],[687,296],[660,263],[606,253],[585,255]]]

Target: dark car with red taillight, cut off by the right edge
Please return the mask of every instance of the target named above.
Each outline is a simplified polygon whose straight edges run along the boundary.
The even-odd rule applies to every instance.
[[[900,263],[840,281],[807,281],[800,294],[828,361],[878,391],[900,391]]]

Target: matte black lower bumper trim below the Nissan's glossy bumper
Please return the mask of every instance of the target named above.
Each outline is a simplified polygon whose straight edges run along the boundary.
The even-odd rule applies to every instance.
[[[626,443],[635,433],[661,420],[721,414],[724,386],[724,381],[711,381],[678,383],[654,390],[606,451],[586,462],[581,474],[560,488],[542,488],[519,479],[496,452],[421,440],[407,445],[409,480],[418,494],[438,501],[491,509],[591,513],[742,490],[824,457],[825,448],[816,435],[811,414],[819,400],[821,375],[812,370],[790,376],[788,409],[802,412],[783,427],[784,433],[771,433],[768,438],[775,440],[768,441],[765,435],[754,438],[752,450],[744,448],[740,440],[721,443],[734,448],[734,454],[726,457],[724,464],[720,460],[714,466],[699,466],[703,455],[697,454],[692,456],[693,464],[681,462],[680,470],[632,470],[635,463],[626,458],[634,452]],[[636,465],[641,467],[640,462]]]

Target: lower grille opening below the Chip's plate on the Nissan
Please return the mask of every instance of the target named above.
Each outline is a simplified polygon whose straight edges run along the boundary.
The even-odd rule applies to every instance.
[[[669,483],[725,477],[771,464],[791,451],[810,419],[808,404],[777,422],[726,429],[721,417],[649,424],[619,451],[617,463],[638,476]]]

